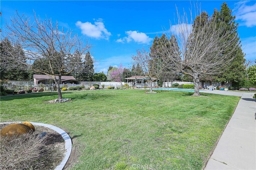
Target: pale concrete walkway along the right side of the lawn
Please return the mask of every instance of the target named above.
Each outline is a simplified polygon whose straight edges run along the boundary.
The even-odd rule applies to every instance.
[[[241,96],[205,170],[256,170],[256,100],[254,93],[206,91]]]

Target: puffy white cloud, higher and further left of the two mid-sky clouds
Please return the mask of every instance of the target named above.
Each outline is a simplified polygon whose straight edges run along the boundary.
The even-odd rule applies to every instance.
[[[83,35],[87,35],[88,37],[109,39],[111,35],[111,33],[105,28],[102,19],[95,21],[94,24],[90,22],[82,23],[81,21],[77,21],[76,26],[82,30]]]

